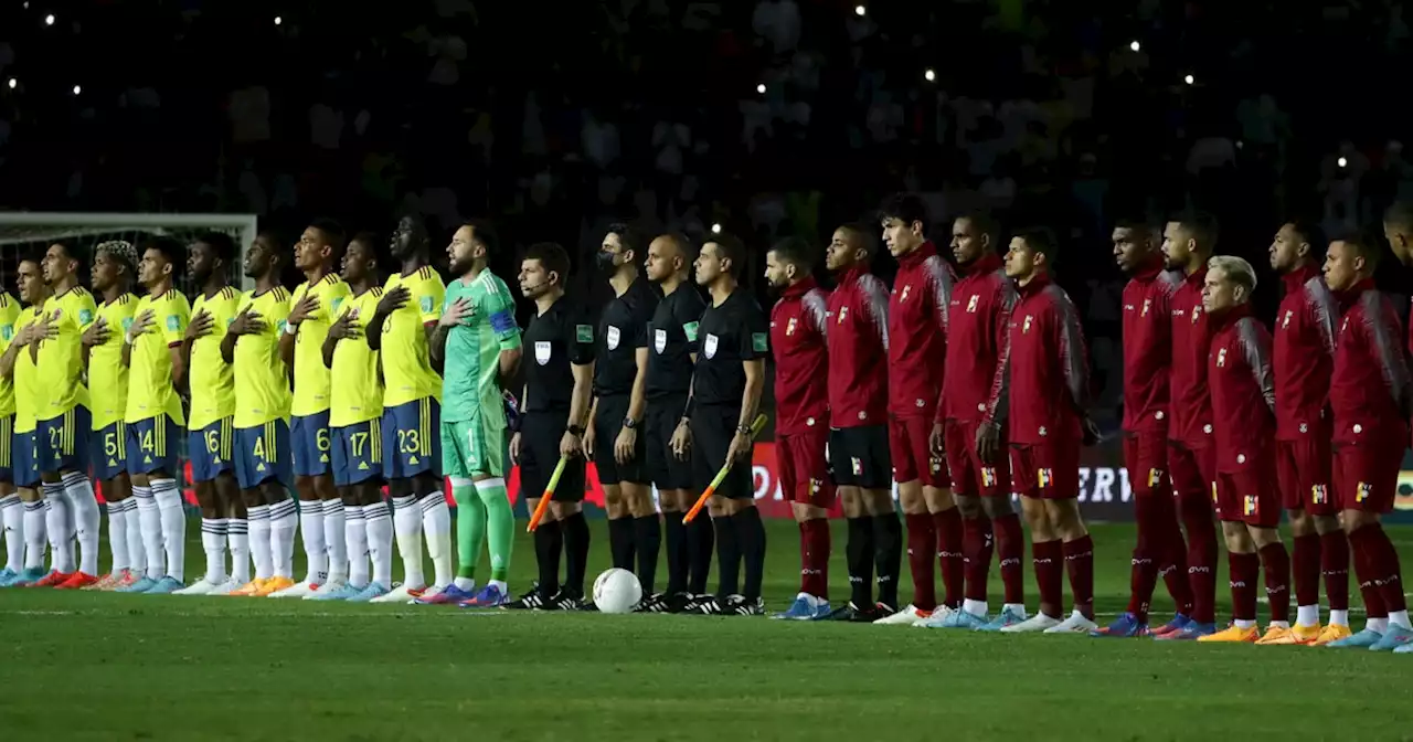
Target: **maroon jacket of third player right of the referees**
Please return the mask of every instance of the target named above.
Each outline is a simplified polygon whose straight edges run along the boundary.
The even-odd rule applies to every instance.
[[[897,260],[887,300],[887,390],[894,417],[933,417],[947,359],[952,267],[931,242]]]

